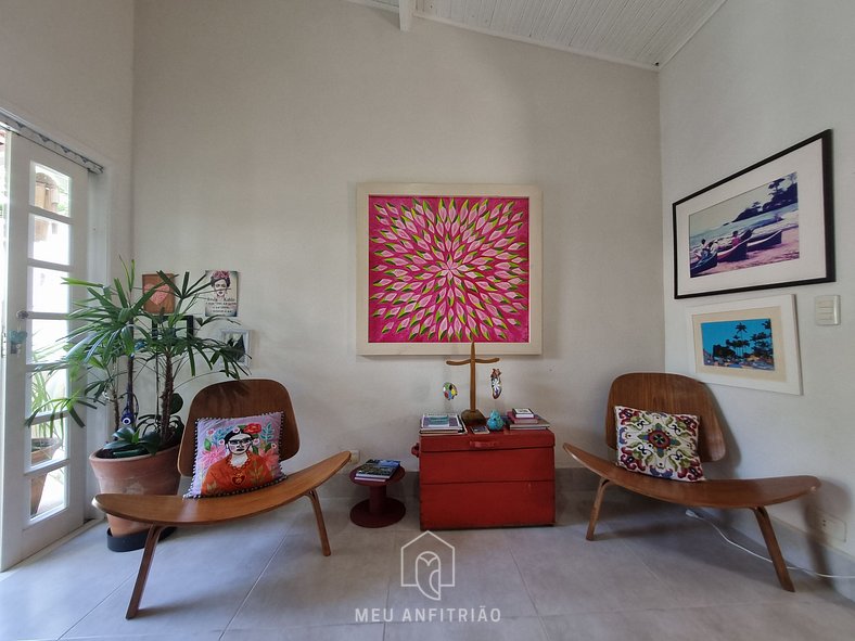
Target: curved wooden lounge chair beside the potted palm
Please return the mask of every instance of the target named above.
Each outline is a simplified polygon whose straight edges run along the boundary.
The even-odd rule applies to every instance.
[[[276,381],[251,380],[228,381],[205,387],[190,406],[187,428],[178,456],[178,470],[186,476],[193,473],[196,419],[230,419],[275,411],[282,412],[280,459],[290,459],[299,449],[299,435],[291,398],[281,384]],[[316,490],[347,463],[349,456],[349,452],[340,452],[299,472],[289,474],[285,480],[276,485],[241,495],[204,499],[184,499],[180,496],[98,495],[92,503],[107,514],[150,524],[140,569],[137,573],[137,582],[125,618],[133,618],[139,611],[154,550],[166,527],[225,523],[255,516],[301,497],[308,497],[315,510],[321,549],[324,556],[329,556],[330,542]]]

